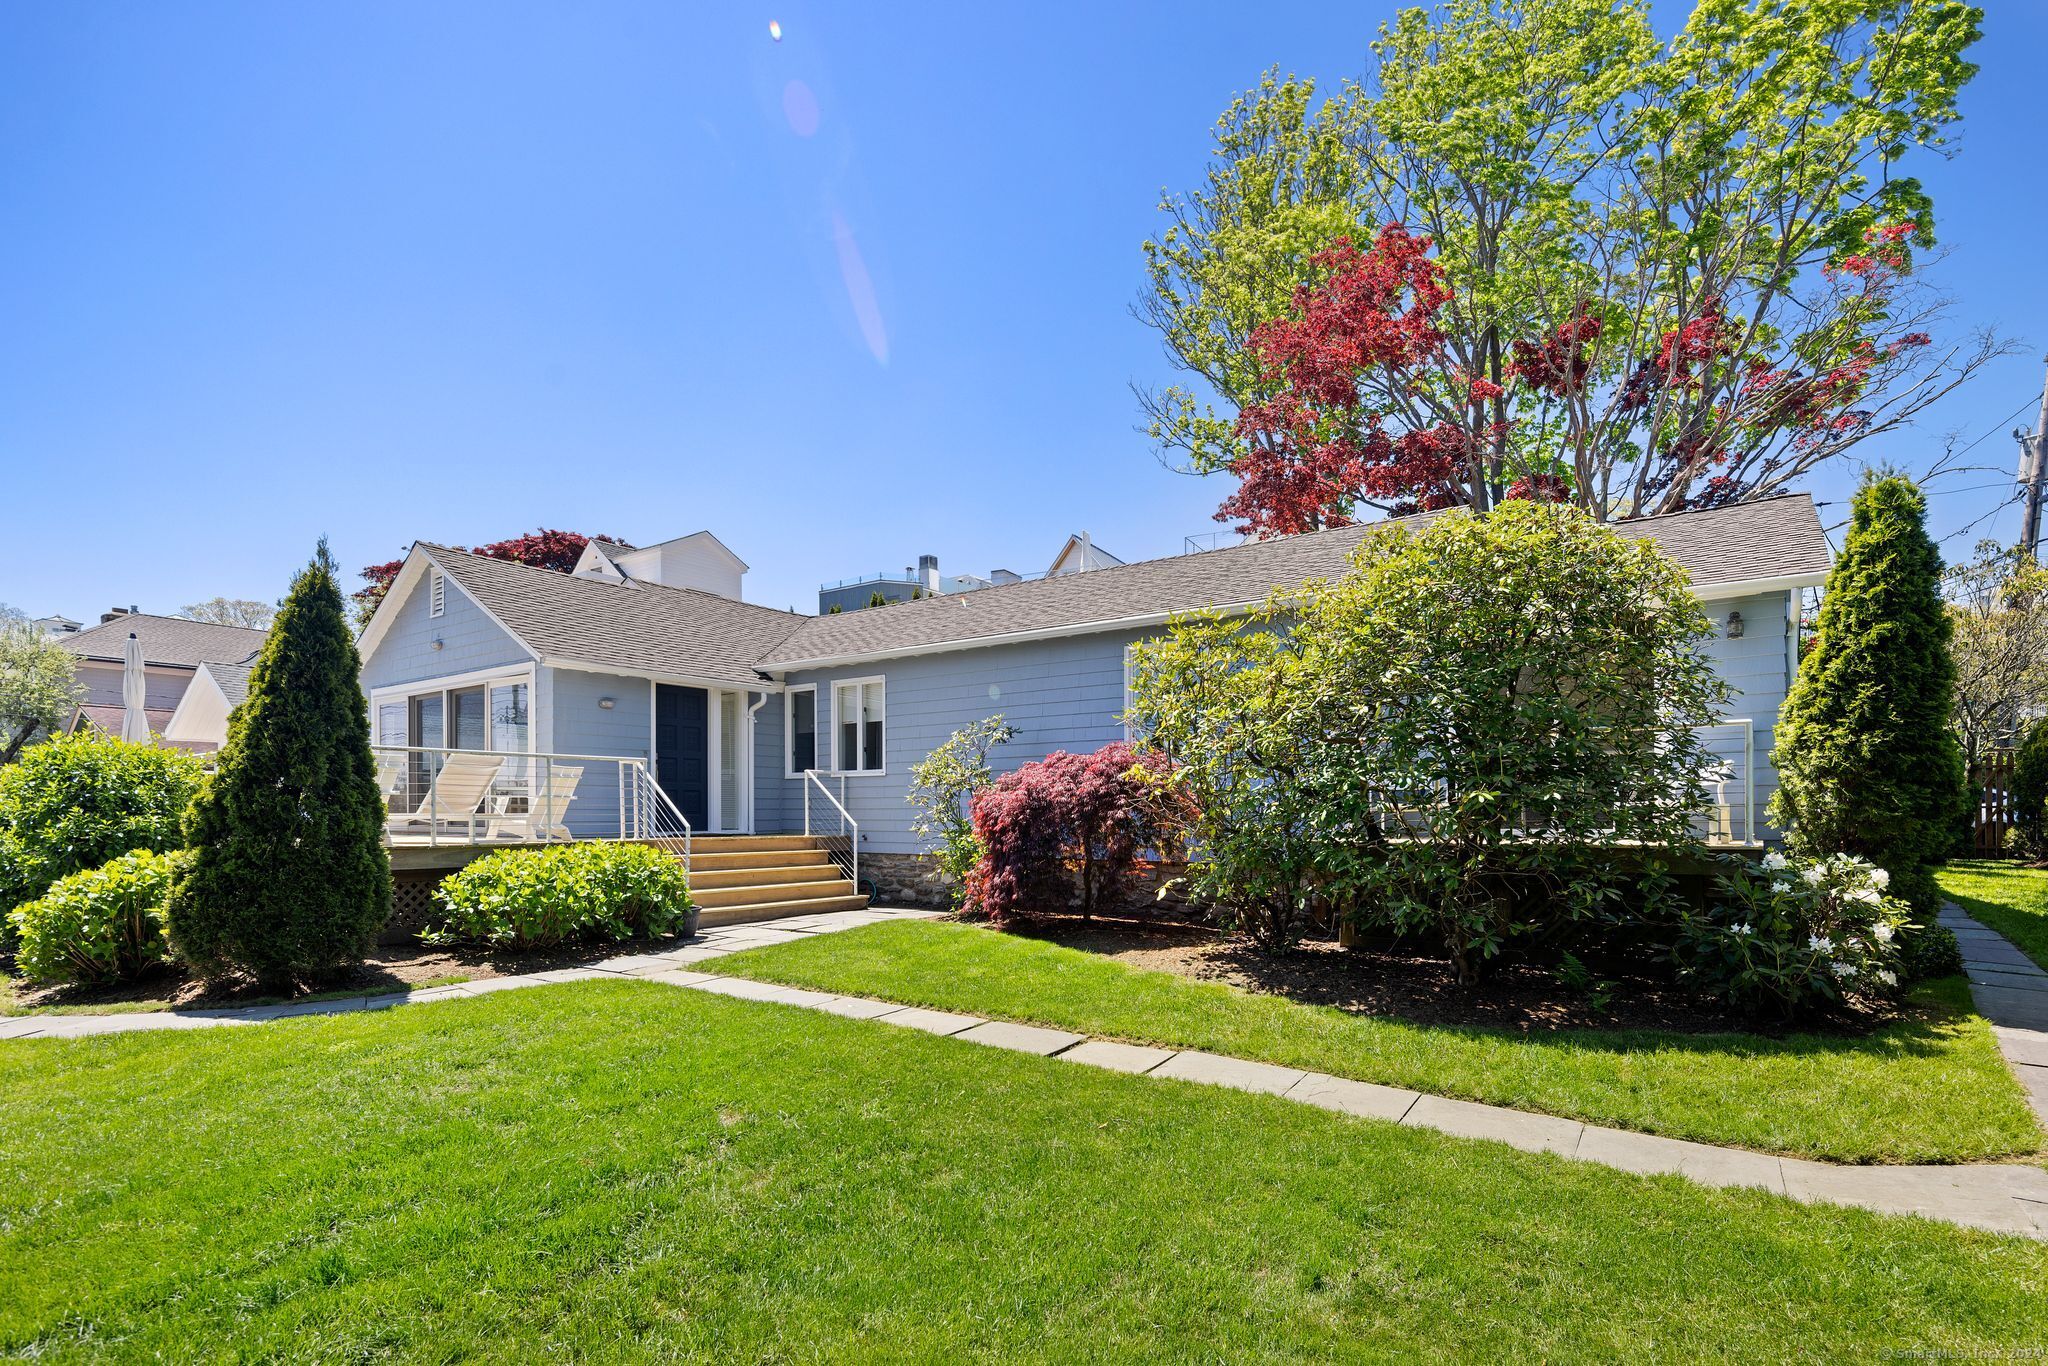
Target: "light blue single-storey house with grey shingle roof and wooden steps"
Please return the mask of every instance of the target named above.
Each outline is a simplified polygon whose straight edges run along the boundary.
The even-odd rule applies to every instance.
[[[1372,530],[1251,541],[823,616],[743,602],[743,565],[709,532],[686,539],[696,541],[688,555],[598,551],[604,565],[573,573],[422,543],[365,629],[362,684],[375,737],[393,754],[549,756],[500,768],[530,793],[532,766],[578,768],[561,821],[571,834],[631,834],[643,819],[635,811],[672,805],[694,840],[692,874],[702,866],[754,907],[772,899],[768,881],[735,881],[754,866],[795,887],[852,891],[831,870],[815,872],[823,856],[813,860],[809,846],[819,831],[846,831],[831,856],[838,872],[913,895],[928,891],[928,864],[905,795],[911,766],[934,745],[991,713],[1018,729],[995,754],[999,768],[1118,739],[1133,641],[1178,612],[1249,608],[1278,588],[1333,578]],[[1753,846],[1767,836],[1759,813],[1774,786],[1772,729],[1796,670],[1798,594],[1823,584],[1831,563],[1812,500],[1794,494],[1616,530],[1653,539],[1683,565],[1716,623],[1708,649],[1735,696],[1708,737],[1726,758],[1714,836]],[[410,801],[420,801],[418,784]],[[514,795],[506,809],[522,801],[530,809],[539,797]],[[516,834],[518,817],[506,829]],[[797,852],[813,874],[774,862]]]

